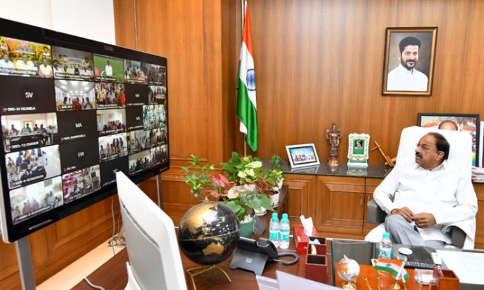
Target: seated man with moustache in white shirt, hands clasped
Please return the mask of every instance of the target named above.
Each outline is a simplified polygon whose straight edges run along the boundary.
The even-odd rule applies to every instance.
[[[401,160],[373,193],[385,210],[385,230],[397,244],[451,244],[444,226],[474,221],[477,198],[470,174],[449,162],[450,144],[439,133],[421,137],[413,160]],[[394,198],[394,201],[392,199]]]

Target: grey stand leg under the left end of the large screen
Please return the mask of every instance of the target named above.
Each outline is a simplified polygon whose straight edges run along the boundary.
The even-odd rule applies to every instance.
[[[15,241],[15,250],[17,251],[17,263],[19,264],[22,289],[33,290],[35,289],[35,277],[33,276],[29,236]]]

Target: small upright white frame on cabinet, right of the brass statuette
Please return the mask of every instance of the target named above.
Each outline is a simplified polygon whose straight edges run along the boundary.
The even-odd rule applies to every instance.
[[[348,135],[348,167],[367,167],[370,135],[351,133]]]

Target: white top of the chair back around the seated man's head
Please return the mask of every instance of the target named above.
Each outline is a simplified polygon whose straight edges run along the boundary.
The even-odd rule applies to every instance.
[[[420,138],[429,132],[437,132],[449,141],[451,150],[449,152],[449,160],[460,164],[464,168],[472,167],[472,138],[469,133],[452,130],[437,130],[435,128],[422,128],[417,126],[408,127],[402,130],[400,136],[400,145],[398,146],[398,153],[396,155],[396,162],[398,160],[405,160],[415,156],[416,144]]]

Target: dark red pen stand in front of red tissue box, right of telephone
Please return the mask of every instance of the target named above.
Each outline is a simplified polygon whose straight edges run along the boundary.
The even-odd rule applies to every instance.
[[[318,239],[321,244],[308,244],[305,278],[317,282],[328,283],[328,256],[326,255],[326,240],[321,237],[309,237],[309,240]],[[313,247],[314,246],[314,247]],[[316,253],[312,253],[312,250]]]

